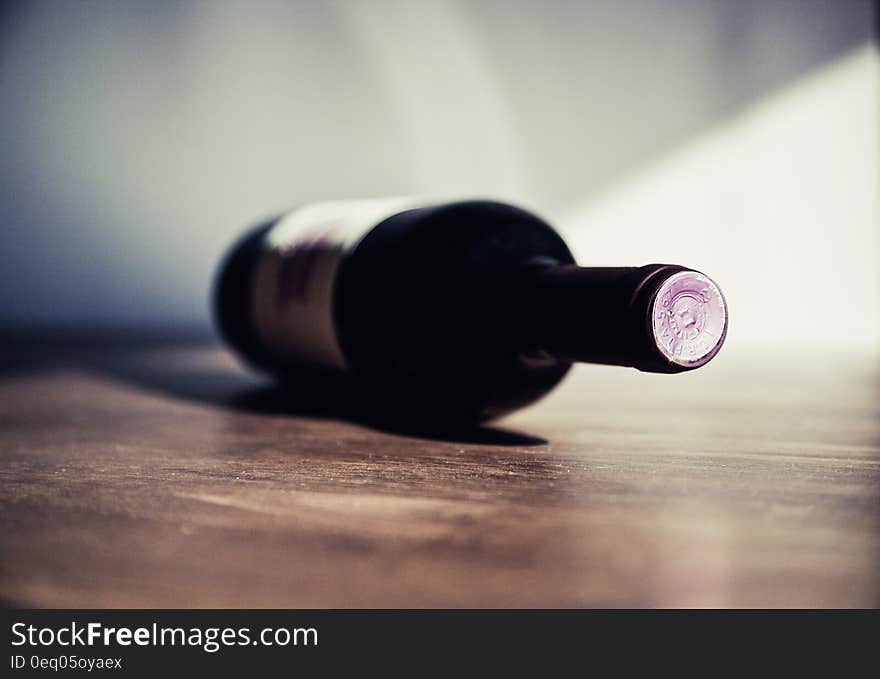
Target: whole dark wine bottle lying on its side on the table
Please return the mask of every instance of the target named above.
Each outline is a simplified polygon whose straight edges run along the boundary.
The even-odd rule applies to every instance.
[[[294,210],[232,248],[215,304],[226,341],[293,388],[344,373],[372,407],[428,418],[495,417],[577,361],[692,370],[727,330],[704,274],[579,267],[542,219],[490,201]]]

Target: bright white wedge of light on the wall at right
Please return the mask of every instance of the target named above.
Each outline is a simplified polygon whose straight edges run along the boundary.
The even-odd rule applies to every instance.
[[[880,59],[866,45],[560,221],[586,264],[670,261],[730,305],[728,349],[880,348]]]

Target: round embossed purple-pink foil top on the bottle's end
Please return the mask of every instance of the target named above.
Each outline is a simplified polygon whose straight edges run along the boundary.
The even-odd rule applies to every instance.
[[[667,278],[651,310],[654,342],[671,363],[697,368],[712,360],[727,334],[727,304],[718,286],[697,271]]]

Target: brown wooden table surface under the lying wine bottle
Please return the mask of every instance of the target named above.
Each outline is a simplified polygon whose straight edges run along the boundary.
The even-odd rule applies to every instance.
[[[867,357],[582,366],[446,437],[289,408],[210,343],[37,339],[0,380],[7,606],[880,605]]]

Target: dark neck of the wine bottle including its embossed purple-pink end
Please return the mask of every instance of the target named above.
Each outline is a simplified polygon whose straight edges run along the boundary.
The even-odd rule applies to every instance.
[[[710,360],[724,339],[720,292],[705,276],[682,266],[539,261],[526,278],[525,313],[519,317],[527,355],[682,372]]]

